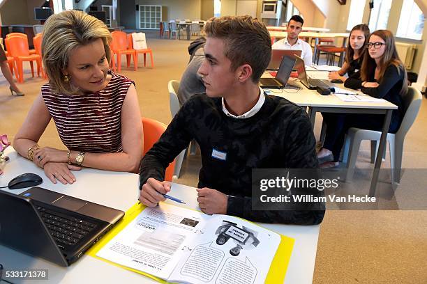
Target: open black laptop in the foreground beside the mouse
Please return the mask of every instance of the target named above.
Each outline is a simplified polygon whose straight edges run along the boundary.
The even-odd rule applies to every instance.
[[[67,267],[123,216],[41,187],[20,195],[0,190],[0,244]]]

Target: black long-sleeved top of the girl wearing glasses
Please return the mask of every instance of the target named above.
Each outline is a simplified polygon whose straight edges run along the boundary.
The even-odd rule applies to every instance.
[[[391,114],[391,123],[390,129],[396,130],[400,126],[400,122],[403,118],[403,99],[400,95],[400,90],[402,89],[405,79],[405,70],[403,68],[398,68],[396,65],[389,65],[385,72],[382,80],[378,83],[380,84],[376,88],[364,88],[361,86],[361,77],[360,71],[354,73],[344,82],[344,86],[352,89],[360,89],[362,93],[370,95],[371,97],[378,97],[384,100],[388,100],[392,104],[396,104],[398,109],[395,109]],[[376,82],[374,74],[368,79],[370,82]],[[391,131],[395,132],[395,131]]]

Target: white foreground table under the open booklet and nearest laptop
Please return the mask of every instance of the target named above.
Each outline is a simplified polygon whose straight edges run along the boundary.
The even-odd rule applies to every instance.
[[[84,168],[82,171],[73,172],[77,179],[74,184],[52,184],[42,169],[20,157],[10,148],[6,149],[6,152],[8,152],[10,161],[4,168],[5,173],[0,175],[0,186],[7,184],[9,180],[21,173],[37,173],[43,178],[43,184],[40,184],[40,187],[114,207],[125,212],[137,202],[137,196],[140,192],[138,190],[139,176],[133,173],[113,173]],[[20,194],[25,190],[27,189],[6,189],[6,191],[14,194]],[[198,209],[197,193],[193,187],[173,184],[172,191],[177,198],[186,200],[188,203],[186,207]],[[177,205],[170,200],[167,200],[167,203]],[[11,212],[10,217],[13,218],[13,212]],[[295,239],[285,283],[312,283],[320,226],[264,223],[261,225]],[[150,278],[110,265],[89,255],[84,255],[70,267],[59,267],[0,245],[0,263],[5,270],[48,269],[49,281],[31,280],[27,283],[157,283]],[[22,282],[15,281],[14,283]]]

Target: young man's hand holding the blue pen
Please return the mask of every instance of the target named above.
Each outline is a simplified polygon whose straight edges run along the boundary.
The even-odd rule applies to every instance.
[[[156,207],[159,201],[166,200],[163,194],[167,194],[170,191],[170,187],[170,182],[159,182],[149,178],[142,186],[139,200],[148,207]]]

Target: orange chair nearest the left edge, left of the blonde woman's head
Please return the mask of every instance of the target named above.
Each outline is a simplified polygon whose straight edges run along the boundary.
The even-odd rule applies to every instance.
[[[19,82],[24,82],[24,70],[22,68],[22,63],[24,61],[29,61],[31,64],[31,74],[34,77],[33,70],[33,61],[37,63],[37,76],[40,77],[40,67],[41,67],[41,56],[38,54],[29,54],[28,40],[24,38],[11,36],[6,38],[6,48],[9,50],[10,55],[15,58],[17,71],[20,77]]]

